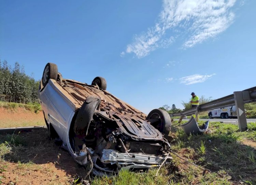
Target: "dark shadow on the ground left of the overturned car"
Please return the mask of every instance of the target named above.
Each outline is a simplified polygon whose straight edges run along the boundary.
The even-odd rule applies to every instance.
[[[5,161],[19,164],[47,164],[52,163],[55,168],[63,170],[71,177],[76,174],[84,176],[85,169],[77,164],[71,155],[49,140],[48,130],[32,130],[18,134],[1,134],[0,145],[3,143],[11,147],[10,152],[2,157]]]

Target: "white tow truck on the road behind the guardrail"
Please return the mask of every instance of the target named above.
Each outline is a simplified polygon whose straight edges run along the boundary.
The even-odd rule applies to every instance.
[[[237,110],[236,106],[227,106],[224,108],[214,109],[211,111],[208,111],[209,118],[214,117],[220,117],[222,119],[224,118],[236,118],[237,117]]]

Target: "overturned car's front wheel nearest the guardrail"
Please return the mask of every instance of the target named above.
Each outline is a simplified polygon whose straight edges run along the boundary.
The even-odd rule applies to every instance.
[[[162,109],[154,109],[147,115],[147,119],[151,122],[151,125],[161,133],[169,135],[172,122],[168,112]]]

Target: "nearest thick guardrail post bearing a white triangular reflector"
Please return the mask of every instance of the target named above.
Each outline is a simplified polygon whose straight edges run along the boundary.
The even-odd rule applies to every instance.
[[[247,130],[247,121],[246,121],[246,115],[244,110],[243,92],[242,91],[234,92],[234,100],[236,103],[239,130],[245,131]]]

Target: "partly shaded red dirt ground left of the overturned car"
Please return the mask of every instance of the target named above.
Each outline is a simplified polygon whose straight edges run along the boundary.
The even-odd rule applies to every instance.
[[[46,128],[20,132],[13,138],[21,144],[11,145],[11,152],[0,160],[0,168],[6,170],[0,173],[6,177],[3,184],[66,185],[72,184],[77,175],[85,175],[85,169],[67,151],[49,140]]]

